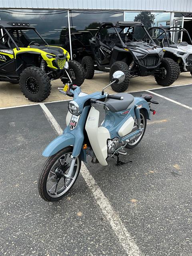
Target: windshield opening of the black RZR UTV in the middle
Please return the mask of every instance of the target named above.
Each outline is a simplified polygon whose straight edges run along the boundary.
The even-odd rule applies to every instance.
[[[143,26],[124,27],[119,31],[120,37],[124,43],[144,41],[148,44],[154,44],[152,38],[148,36]]]

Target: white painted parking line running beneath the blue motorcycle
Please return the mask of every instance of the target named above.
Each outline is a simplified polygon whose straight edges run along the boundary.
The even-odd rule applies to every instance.
[[[42,110],[48,120],[49,123],[52,124],[54,129],[57,131],[57,133],[60,135],[62,134],[62,129],[60,128],[60,125],[55,120],[54,116],[51,114],[51,112],[48,110],[48,108],[44,105],[44,103],[41,103],[40,106],[42,107]],[[82,168],[81,168],[81,174],[92,191],[92,194],[102,210],[102,213],[105,215],[106,219],[110,223],[110,226],[112,227],[113,231],[115,232],[116,236],[118,237],[118,240],[120,241],[122,247],[124,248],[126,254],[128,256],[142,256],[138,246],[134,242],[133,238],[130,236],[129,232],[126,230],[126,227],[120,220],[120,217],[114,209],[112,208],[109,200],[104,196],[103,192],[101,191],[100,187],[94,180],[93,176],[90,174],[84,163],[82,162]]]

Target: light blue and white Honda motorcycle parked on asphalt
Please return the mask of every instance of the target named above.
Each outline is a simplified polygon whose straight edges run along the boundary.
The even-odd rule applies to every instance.
[[[114,72],[112,83],[122,83],[124,73]],[[111,83],[111,84],[112,84]],[[110,86],[109,84],[108,86]],[[106,86],[104,89],[106,89]],[[116,158],[117,164],[124,164],[119,155],[125,155],[125,148],[139,144],[150,119],[150,103],[158,104],[149,94],[133,97],[128,93],[109,95],[104,92],[86,94],[72,83],[60,92],[73,97],[68,103],[66,128],[63,134],[45,148],[43,156],[48,157],[38,181],[40,196],[46,201],[62,198],[75,183],[81,169],[81,161],[87,156],[92,163],[107,165],[109,157]],[[96,104],[104,106],[105,119],[101,126]]]

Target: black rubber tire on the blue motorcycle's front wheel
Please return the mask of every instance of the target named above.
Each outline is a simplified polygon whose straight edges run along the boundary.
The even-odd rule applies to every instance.
[[[80,169],[81,169],[81,158],[80,158],[80,156],[78,156],[78,158],[76,160],[76,163],[78,163],[78,166],[76,168],[78,168],[78,169],[74,170],[74,172],[75,172],[74,180],[72,180],[72,184],[69,185],[68,190],[66,190],[66,192],[63,190],[63,192],[62,191],[60,192],[61,195],[58,194],[56,196],[55,195],[50,195],[48,193],[48,188],[47,188],[48,179],[50,179],[52,174],[54,173],[54,168],[52,168],[52,167],[56,167],[56,166],[54,166],[54,164],[64,154],[72,154],[72,150],[73,150],[73,148],[71,146],[63,148],[62,150],[60,150],[59,152],[57,152],[53,156],[50,156],[46,160],[44,166],[42,167],[42,170],[40,172],[39,179],[38,179],[38,190],[39,190],[40,196],[45,201],[53,202],[53,201],[60,200],[66,194],[68,194],[68,192],[70,191],[70,189],[72,188],[72,186],[76,182],[76,179],[78,178],[78,175],[79,175],[79,172],[80,172]],[[69,169],[67,169],[67,172],[68,172],[68,170]],[[53,173],[50,172],[50,171],[52,171]],[[61,178],[61,179],[63,179],[63,178]]]

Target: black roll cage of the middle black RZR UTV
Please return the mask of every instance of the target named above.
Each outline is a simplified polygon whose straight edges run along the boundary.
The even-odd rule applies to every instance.
[[[100,25],[100,28],[98,29],[97,33],[95,34],[95,38],[97,36],[97,34],[99,33],[100,29],[102,28],[102,26],[104,25],[111,25],[114,27],[117,35],[118,35],[118,38],[122,44],[122,46],[125,46],[125,43],[123,42],[122,38],[120,37],[120,33],[127,27],[131,27],[131,28],[134,28],[136,26],[138,27],[142,27],[145,31],[145,33],[148,35],[149,39],[151,40],[151,42],[153,44],[155,44],[154,40],[151,38],[150,34],[148,33],[148,30],[146,30],[144,24],[142,22],[138,22],[138,21],[118,21],[118,22],[105,22],[105,23],[102,23]],[[118,30],[116,28],[122,28],[122,30],[120,32],[118,32]],[[156,45],[156,44],[155,44]]]

